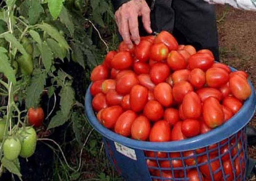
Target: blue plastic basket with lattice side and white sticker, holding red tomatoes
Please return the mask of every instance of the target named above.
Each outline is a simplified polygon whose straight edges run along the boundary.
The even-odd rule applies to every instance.
[[[254,90],[250,81],[249,84]],[[220,127],[193,138],[161,143],[133,140],[112,132],[97,121],[91,103],[89,87],[85,97],[86,115],[93,128],[103,136],[109,160],[126,181],[188,181],[187,174],[191,170],[197,171],[200,181],[206,181],[206,178],[207,181],[233,180],[231,178],[245,181],[245,126],[255,112],[255,91],[239,112]],[[222,154],[224,147],[228,151]],[[231,158],[232,175],[225,173],[221,159],[224,156]],[[199,162],[203,157],[206,157],[205,162]],[[177,162],[179,164],[175,165]],[[214,164],[217,168],[211,167]],[[203,167],[209,169],[206,178],[200,174]]]

